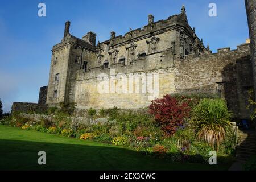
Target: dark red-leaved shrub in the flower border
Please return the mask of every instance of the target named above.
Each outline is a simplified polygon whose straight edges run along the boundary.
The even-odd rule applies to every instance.
[[[156,122],[159,123],[167,135],[174,134],[176,128],[182,125],[184,118],[189,115],[190,107],[188,102],[178,102],[176,98],[170,95],[151,102],[149,113],[155,116]]]

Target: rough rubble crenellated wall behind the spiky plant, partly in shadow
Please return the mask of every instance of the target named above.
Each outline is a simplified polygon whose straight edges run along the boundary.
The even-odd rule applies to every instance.
[[[218,49],[201,52],[199,57],[175,60],[175,92],[201,90],[221,92],[236,117],[249,117],[247,93],[253,87],[249,44],[236,50]]]

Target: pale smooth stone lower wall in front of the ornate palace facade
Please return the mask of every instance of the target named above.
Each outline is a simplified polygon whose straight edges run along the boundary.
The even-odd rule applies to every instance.
[[[135,59],[132,64],[128,65],[117,63],[109,69],[98,67],[91,69],[90,72],[77,71],[75,89],[77,108],[101,109],[117,106],[122,109],[131,109],[148,106],[152,99],[174,92],[173,64],[171,49],[167,49],[141,59]],[[109,79],[106,81],[107,93],[102,93],[98,89],[98,86],[103,83],[103,80],[98,80],[102,74]],[[126,83],[122,82],[125,78],[118,79],[120,74],[127,78]],[[130,79],[133,81],[129,80],[129,76],[132,77]],[[114,80],[114,78],[116,79]],[[123,85],[127,88],[127,93],[118,92],[118,89],[122,89]],[[159,89],[155,90],[156,86]],[[106,87],[102,86],[101,88]],[[137,88],[139,89],[137,90]],[[146,92],[143,92],[143,88],[146,88]],[[129,89],[133,91],[129,91]]]

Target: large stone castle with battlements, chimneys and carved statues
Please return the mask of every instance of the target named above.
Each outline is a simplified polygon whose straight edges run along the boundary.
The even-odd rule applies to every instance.
[[[247,9],[251,10],[248,6]],[[184,6],[180,14],[158,22],[150,14],[142,29],[130,29],[123,36],[112,31],[109,40],[97,44],[94,32],[80,39],[69,33],[70,26],[70,22],[65,23],[63,39],[52,48],[49,84],[48,88],[40,88],[40,104],[49,107],[75,102],[77,109],[138,109],[151,102],[150,79],[145,80],[143,75],[157,75],[158,83],[152,84],[152,88],[158,86],[159,98],[179,92],[220,93],[237,118],[249,118],[247,98],[255,77],[250,56],[255,49],[251,52],[247,42],[235,50],[227,47],[212,53],[196,35],[195,28],[189,26]],[[255,30],[255,21],[251,29]],[[251,40],[254,48],[255,34]],[[122,82],[125,88],[130,84],[129,93],[116,93],[117,88],[109,86],[112,78],[121,73],[133,77],[125,83],[113,82]],[[98,92],[98,75],[102,74],[108,75],[109,92]],[[147,84],[146,93],[135,92],[136,81],[138,90]]]

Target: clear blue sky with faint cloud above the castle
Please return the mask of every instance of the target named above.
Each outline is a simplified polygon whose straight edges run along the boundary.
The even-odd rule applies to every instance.
[[[46,17],[38,16],[38,4],[46,4]],[[216,3],[217,17],[209,17],[209,3]],[[3,1],[0,6],[0,98],[3,110],[11,104],[38,102],[40,86],[48,85],[51,49],[63,37],[64,23],[71,21],[71,34],[81,38],[93,31],[100,42],[110,32],[123,35],[130,28],[179,14],[185,5],[188,22],[205,45],[236,49],[249,38],[243,0],[51,0]]]

